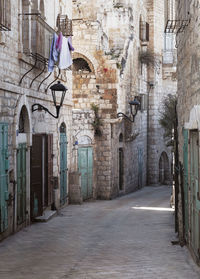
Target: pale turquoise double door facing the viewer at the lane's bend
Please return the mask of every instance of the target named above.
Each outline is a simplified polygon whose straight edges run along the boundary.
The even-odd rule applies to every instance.
[[[78,149],[78,169],[81,173],[81,191],[83,200],[92,198],[93,191],[93,151],[92,147]]]

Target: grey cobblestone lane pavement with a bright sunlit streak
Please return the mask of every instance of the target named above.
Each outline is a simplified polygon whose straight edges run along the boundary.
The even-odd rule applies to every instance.
[[[0,278],[199,279],[187,248],[171,245],[170,191],[146,187],[64,208],[0,243]]]

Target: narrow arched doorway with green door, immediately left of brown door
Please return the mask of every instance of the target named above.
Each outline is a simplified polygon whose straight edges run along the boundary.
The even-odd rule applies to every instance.
[[[28,111],[22,106],[18,122],[18,146],[17,146],[17,224],[26,221],[26,153],[28,134],[30,132]]]

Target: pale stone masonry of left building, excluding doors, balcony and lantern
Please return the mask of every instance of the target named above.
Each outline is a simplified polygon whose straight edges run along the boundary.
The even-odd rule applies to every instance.
[[[71,18],[71,2],[58,3],[44,1],[44,16],[47,22],[53,28],[56,26],[57,12],[62,9],[63,13],[67,13]],[[63,2],[63,1],[60,1]],[[23,1],[25,3],[25,1]],[[36,1],[35,1],[36,3]],[[25,9],[22,9],[22,1],[11,1],[11,31],[0,31],[0,122],[8,123],[9,127],[9,175],[12,174],[12,181],[9,183],[8,192],[12,197],[12,202],[8,208],[8,230],[0,235],[0,239],[9,235],[11,232],[19,230],[21,226],[17,226],[17,185],[13,184],[17,180],[16,152],[18,144],[22,138],[27,138],[27,183],[26,183],[26,222],[23,225],[30,223],[30,148],[32,145],[32,135],[35,133],[53,134],[53,174],[59,176],[60,154],[59,154],[59,128],[62,122],[67,126],[68,136],[68,162],[71,161],[71,122],[72,122],[72,74],[71,71],[62,72],[62,82],[68,87],[64,106],[61,109],[61,114],[58,120],[52,118],[44,112],[31,112],[31,107],[34,103],[40,103],[47,107],[52,113],[55,113],[50,89],[45,92],[45,88],[52,82],[57,74],[52,74],[52,77],[47,79],[38,90],[40,82],[48,75],[45,69],[33,83],[30,88],[31,81],[41,72],[43,65],[37,64],[36,68],[26,75],[20,83],[22,76],[31,69],[34,65],[34,59],[26,56],[23,53],[22,45],[22,14],[30,12],[31,1],[27,1]],[[38,9],[37,9],[38,10]],[[18,15],[19,14],[19,15]],[[36,38],[37,35],[32,34]],[[27,42],[28,43],[28,42]],[[41,41],[41,44],[43,42]],[[47,50],[49,52],[49,50]],[[27,110],[27,129],[26,135],[19,133],[19,117],[21,108],[25,106]],[[71,166],[69,165],[69,170]],[[11,179],[10,179],[11,180]]]

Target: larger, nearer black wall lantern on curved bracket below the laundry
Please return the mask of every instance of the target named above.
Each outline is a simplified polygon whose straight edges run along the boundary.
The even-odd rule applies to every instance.
[[[68,89],[63,84],[61,84],[60,81],[58,81],[58,83],[52,85],[50,87],[50,89],[51,89],[51,93],[52,93],[53,103],[56,108],[56,115],[52,114],[47,108],[45,108],[44,106],[42,106],[40,104],[32,105],[32,112],[34,112],[36,110],[39,110],[39,111],[44,110],[45,112],[48,112],[54,118],[58,118],[59,113],[60,113],[60,108],[63,105],[65,94]],[[57,105],[58,103],[59,103],[59,105]]]

